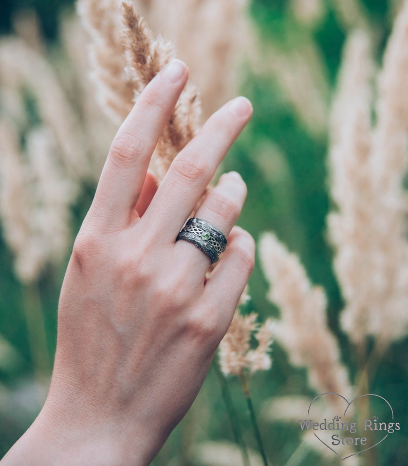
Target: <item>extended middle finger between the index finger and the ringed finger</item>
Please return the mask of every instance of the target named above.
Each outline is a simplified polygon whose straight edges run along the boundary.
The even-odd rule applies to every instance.
[[[184,222],[252,114],[248,99],[221,107],[174,159],[141,221],[174,244]]]

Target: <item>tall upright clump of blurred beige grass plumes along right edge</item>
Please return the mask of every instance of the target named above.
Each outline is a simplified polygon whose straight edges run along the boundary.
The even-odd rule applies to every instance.
[[[408,333],[408,2],[384,53],[376,124],[371,125],[368,36],[347,42],[338,98],[333,106],[329,216],[335,268],[345,299],[343,329],[362,345],[368,335],[385,348]]]

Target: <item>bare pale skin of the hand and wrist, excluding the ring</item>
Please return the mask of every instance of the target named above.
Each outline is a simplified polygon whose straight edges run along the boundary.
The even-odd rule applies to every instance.
[[[198,394],[254,264],[234,227],[242,178],[222,175],[195,215],[228,235],[208,279],[209,257],[176,237],[252,107],[221,107],[157,189],[147,167],[187,79],[178,60],[163,68],[112,143],[64,278],[47,400],[1,466],[147,465]]]

